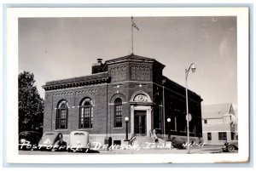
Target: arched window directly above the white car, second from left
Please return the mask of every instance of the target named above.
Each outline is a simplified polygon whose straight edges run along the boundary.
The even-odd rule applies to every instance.
[[[80,106],[79,128],[92,128],[93,108],[90,98],[85,98]]]

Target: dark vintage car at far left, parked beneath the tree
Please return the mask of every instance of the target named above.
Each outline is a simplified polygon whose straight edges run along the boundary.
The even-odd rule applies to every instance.
[[[19,134],[19,150],[31,150],[33,146],[38,146],[41,136],[35,131],[23,131]]]

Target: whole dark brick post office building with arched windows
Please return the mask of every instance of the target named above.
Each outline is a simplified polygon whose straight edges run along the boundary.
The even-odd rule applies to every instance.
[[[130,54],[113,60],[98,60],[92,74],[47,82],[45,89],[44,132],[59,131],[68,136],[86,130],[90,140],[125,140],[125,117],[132,134],[150,136],[156,128],[172,136],[186,137],[185,88],[162,75],[159,61]],[[200,140],[201,97],[189,91],[191,140]]]

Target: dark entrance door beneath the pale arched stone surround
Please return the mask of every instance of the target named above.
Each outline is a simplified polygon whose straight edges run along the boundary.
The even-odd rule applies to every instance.
[[[134,134],[141,135],[141,136],[147,135],[146,111],[135,111]]]

